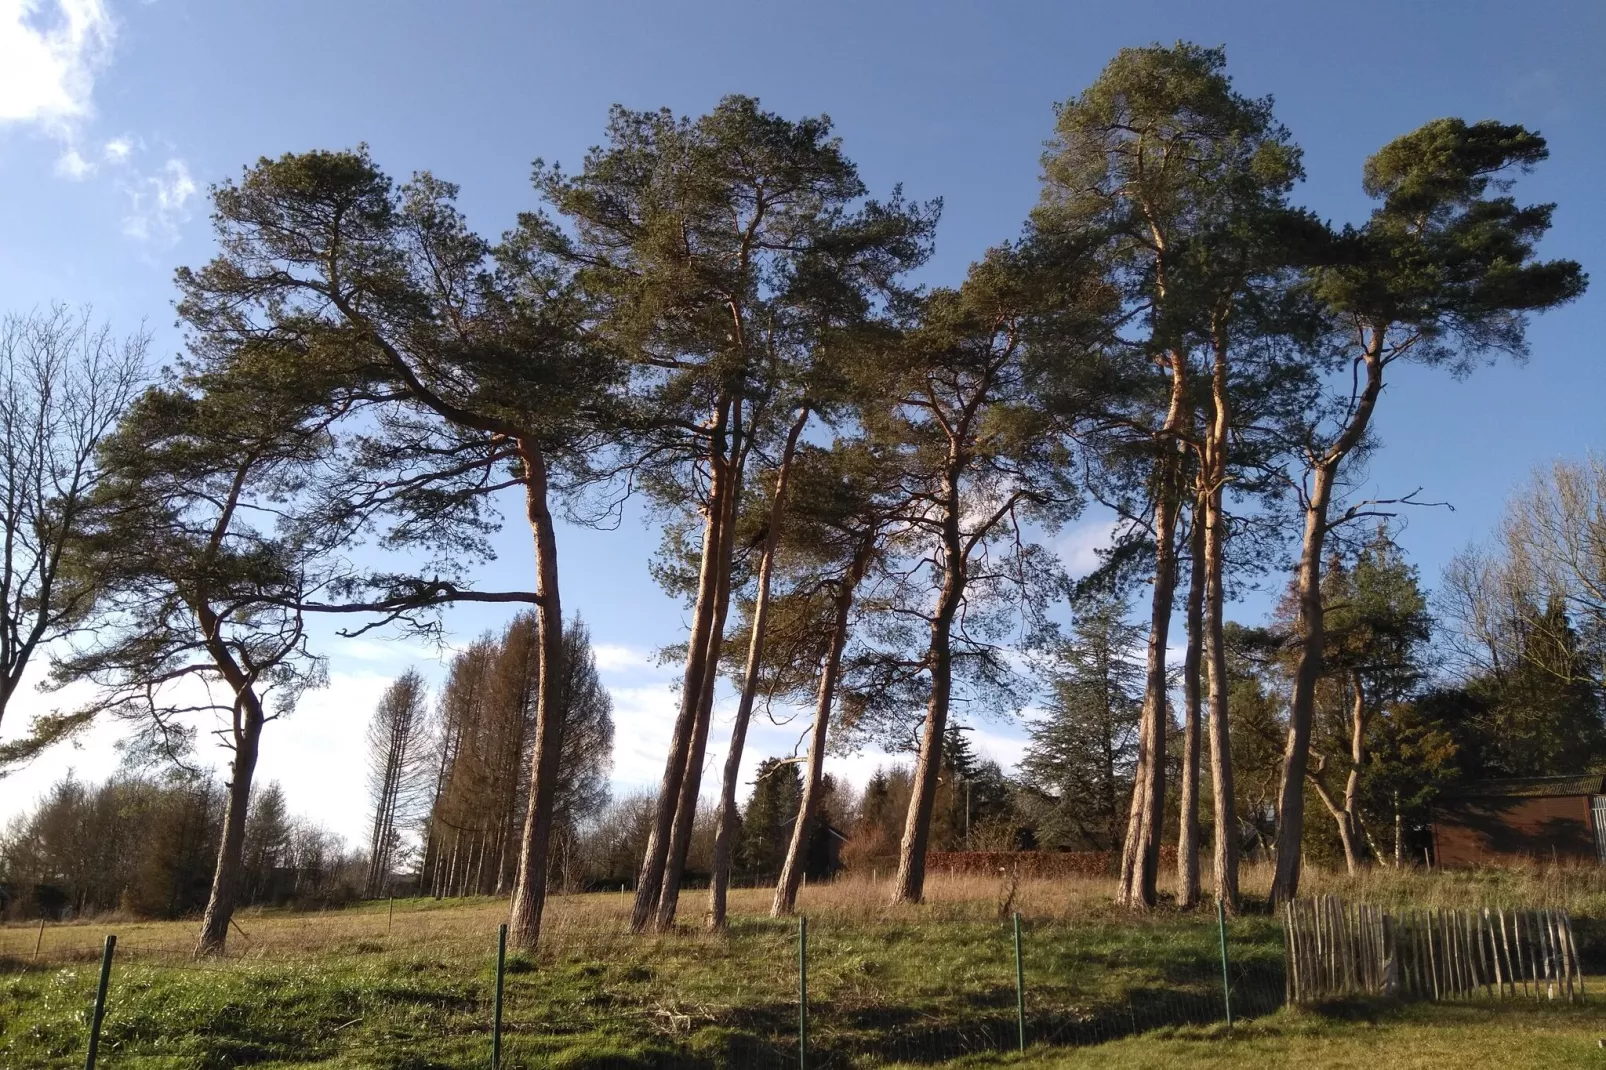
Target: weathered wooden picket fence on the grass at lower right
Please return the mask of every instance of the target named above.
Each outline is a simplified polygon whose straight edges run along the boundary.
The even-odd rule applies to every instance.
[[[1320,896],[1283,908],[1283,938],[1290,1003],[1584,998],[1566,911],[1384,909]]]

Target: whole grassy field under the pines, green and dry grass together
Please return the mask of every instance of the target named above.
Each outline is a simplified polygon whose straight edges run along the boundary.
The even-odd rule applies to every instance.
[[[1600,871],[1310,884],[1370,901],[1550,903],[1606,916]],[[1274,1011],[1282,935],[1266,916],[1230,927],[1235,1011],[1246,1020],[1229,1038],[1214,919],[1132,917],[1097,880],[1018,890],[1036,1046],[1025,1057],[988,1054],[1017,1043],[1001,893],[984,879],[936,879],[927,903],[891,908],[869,882],[808,888],[811,1065],[1606,1068],[1598,1004]],[[630,903],[618,893],[554,898],[540,954],[509,962],[504,1067],[795,1065],[797,925],[764,917],[768,898],[739,892],[731,930],[708,935],[702,895],[689,893],[683,929],[646,938],[625,932]],[[119,951],[103,1067],[485,1067],[504,911],[491,900],[397,901],[393,917],[385,903],[247,911],[230,956],[207,962],[190,958],[194,922],[48,925],[37,961],[37,927],[0,927],[0,1067],[82,1065],[104,932],[117,933]],[[1585,964],[1598,962],[1587,950]]]

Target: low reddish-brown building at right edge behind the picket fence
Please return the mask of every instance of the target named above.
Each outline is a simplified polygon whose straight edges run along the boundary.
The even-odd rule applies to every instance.
[[[1441,866],[1511,858],[1606,863],[1606,774],[1468,784],[1433,807]]]

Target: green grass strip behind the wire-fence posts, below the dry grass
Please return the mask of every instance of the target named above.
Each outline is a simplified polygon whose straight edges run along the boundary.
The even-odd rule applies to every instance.
[[[1241,922],[1243,975],[1275,982],[1275,932]],[[112,974],[109,1067],[483,1065],[491,954],[472,945],[360,938],[302,956],[193,964],[133,950]],[[16,969],[16,964],[11,967]],[[0,1065],[82,1060],[96,962],[0,982]],[[631,938],[569,929],[506,985],[506,1065],[782,1065],[797,1036],[797,930],[739,917],[726,935]],[[1033,1020],[1118,1035],[1139,1022],[1219,1014],[1214,929],[1203,919],[1037,922],[1026,932]],[[809,933],[811,1033],[821,1059],[923,1062],[1013,1043],[1007,924],[817,917]],[[1248,998],[1248,996],[1246,996]]]

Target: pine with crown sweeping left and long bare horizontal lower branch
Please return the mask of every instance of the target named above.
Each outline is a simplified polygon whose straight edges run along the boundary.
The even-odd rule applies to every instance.
[[[536,236],[516,230],[493,246],[456,193],[429,174],[398,188],[363,148],[262,159],[214,188],[220,254],[180,270],[178,312],[196,347],[226,355],[271,341],[286,365],[339,376],[353,413],[374,416],[373,471],[353,472],[336,504],[397,521],[395,545],[450,553],[418,574],[353,577],[350,609],[416,623],[421,606],[445,601],[536,606],[541,700],[509,919],[514,943],[532,948],[562,736],[554,480],[585,468],[612,371],[583,344],[583,312]],[[487,551],[487,495],[504,487],[524,495],[535,590],[466,591],[461,562]]]

